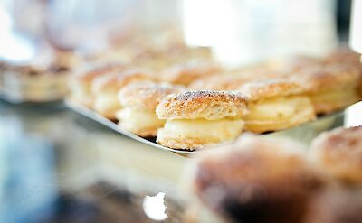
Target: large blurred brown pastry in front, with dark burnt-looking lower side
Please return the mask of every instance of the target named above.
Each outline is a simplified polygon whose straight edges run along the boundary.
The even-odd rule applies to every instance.
[[[230,222],[302,222],[325,179],[300,144],[252,137],[201,155],[193,189],[209,209]]]

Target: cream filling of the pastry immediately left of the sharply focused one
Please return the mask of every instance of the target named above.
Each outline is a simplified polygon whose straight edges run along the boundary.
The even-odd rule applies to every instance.
[[[151,128],[160,128],[165,124],[165,120],[158,119],[156,113],[124,107],[117,114],[119,125],[130,132],[138,132]]]

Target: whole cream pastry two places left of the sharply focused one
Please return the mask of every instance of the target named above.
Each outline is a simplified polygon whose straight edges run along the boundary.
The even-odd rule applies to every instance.
[[[96,78],[91,86],[94,96],[93,109],[101,116],[116,119],[119,110],[119,89],[131,82],[150,80],[151,76],[145,70],[126,69],[118,73],[110,73]]]

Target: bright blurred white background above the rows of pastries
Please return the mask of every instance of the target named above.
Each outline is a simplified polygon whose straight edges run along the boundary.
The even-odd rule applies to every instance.
[[[226,63],[323,55],[348,41],[350,1],[1,0],[0,55],[26,59],[39,45],[100,51],[140,30],[177,30]]]

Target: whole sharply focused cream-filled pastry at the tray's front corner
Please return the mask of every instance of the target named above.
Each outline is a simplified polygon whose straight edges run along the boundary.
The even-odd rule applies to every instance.
[[[157,143],[195,150],[207,144],[233,141],[243,131],[247,112],[242,95],[228,91],[186,91],[163,98],[158,118],[167,119],[158,130]]]

